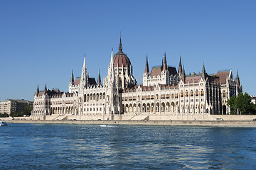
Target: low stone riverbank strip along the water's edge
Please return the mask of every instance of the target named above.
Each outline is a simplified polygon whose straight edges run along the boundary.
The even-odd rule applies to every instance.
[[[55,123],[86,125],[191,125],[191,126],[232,126],[255,127],[256,122],[241,120],[6,120],[7,123]]]

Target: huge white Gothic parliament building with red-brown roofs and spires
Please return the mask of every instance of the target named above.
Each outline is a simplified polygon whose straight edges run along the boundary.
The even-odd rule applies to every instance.
[[[238,96],[242,85],[231,69],[208,75],[203,64],[201,73],[185,74],[167,65],[166,54],[159,67],[149,70],[146,57],[143,84],[133,76],[132,63],[122,51],[110,57],[107,77],[103,84],[100,72],[97,82],[88,76],[85,58],[81,77],[74,80],[73,72],[67,93],[37,89],[34,95],[33,119],[55,115],[80,120],[131,120],[136,115],[204,115],[229,114],[228,98]]]

